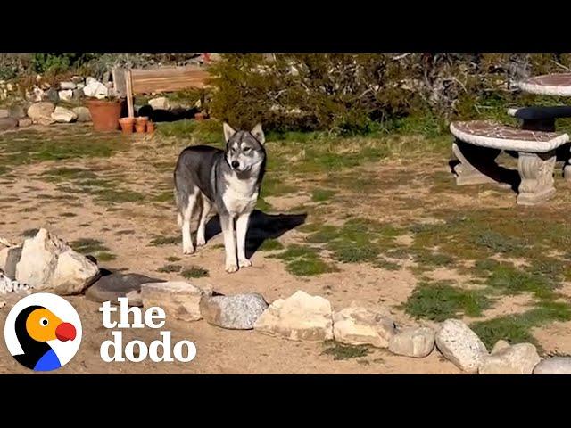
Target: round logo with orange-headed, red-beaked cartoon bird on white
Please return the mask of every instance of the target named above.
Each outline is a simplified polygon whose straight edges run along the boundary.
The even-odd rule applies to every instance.
[[[65,366],[79,350],[81,321],[67,300],[37,292],[14,305],[4,325],[13,358],[37,372]]]

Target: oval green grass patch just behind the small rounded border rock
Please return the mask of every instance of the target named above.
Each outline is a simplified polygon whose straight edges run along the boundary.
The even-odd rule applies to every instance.
[[[446,282],[422,282],[401,308],[413,317],[442,322],[459,315],[479,317],[490,306],[484,292],[461,290]]]

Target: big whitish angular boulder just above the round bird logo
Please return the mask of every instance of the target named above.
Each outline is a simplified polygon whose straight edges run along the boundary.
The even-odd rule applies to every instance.
[[[16,280],[36,291],[68,295],[83,292],[99,275],[99,268],[46,229],[26,239],[16,265]]]

